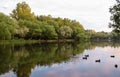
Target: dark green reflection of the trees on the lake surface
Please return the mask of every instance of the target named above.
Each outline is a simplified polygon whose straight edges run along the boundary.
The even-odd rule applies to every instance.
[[[0,74],[9,70],[18,77],[29,77],[36,66],[51,66],[54,63],[68,62],[71,56],[82,53],[95,46],[120,46],[119,43],[60,43],[34,45],[0,45]]]

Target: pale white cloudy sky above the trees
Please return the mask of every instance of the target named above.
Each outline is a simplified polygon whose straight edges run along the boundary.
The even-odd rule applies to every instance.
[[[79,21],[85,29],[110,32],[109,8],[115,0],[0,0],[0,12],[7,15],[18,2],[27,2],[36,15],[52,15]]]

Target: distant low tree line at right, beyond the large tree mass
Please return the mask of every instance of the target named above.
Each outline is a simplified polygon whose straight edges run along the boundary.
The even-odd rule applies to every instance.
[[[96,32],[95,30],[86,30],[91,41],[120,41],[120,36],[114,30],[111,32]]]

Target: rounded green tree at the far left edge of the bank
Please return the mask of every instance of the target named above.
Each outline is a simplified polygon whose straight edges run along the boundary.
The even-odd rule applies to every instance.
[[[0,39],[11,39],[16,33],[17,22],[9,16],[0,13]]]

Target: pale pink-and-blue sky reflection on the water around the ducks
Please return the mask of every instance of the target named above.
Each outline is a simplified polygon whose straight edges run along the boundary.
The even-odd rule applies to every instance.
[[[82,57],[89,54],[87,60]],[[111,58],[115,55],[115,58]],[[100,63],[95,60],[100,59]],[[114,65],[117,64],[118,68]],[[96,47],[85,50],[83,54],[71,58],[68,63],[54,64],[50,67],[40,67],[32,71],[31,77],[120,77],[120,47]]]

